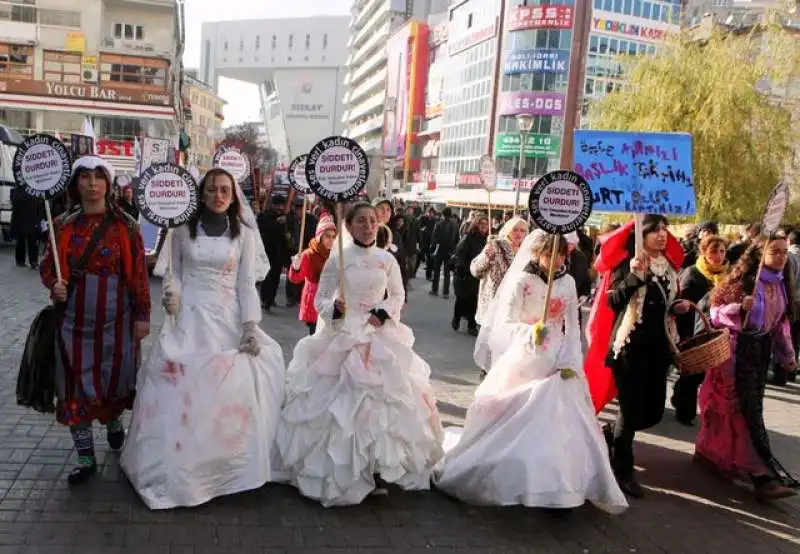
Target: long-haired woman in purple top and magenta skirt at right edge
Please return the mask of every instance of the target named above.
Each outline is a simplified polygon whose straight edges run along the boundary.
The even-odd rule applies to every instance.
[[[711,319],[730,330],[732,357],[709,368],[700,388],[695,461],[723,477],[750,480],[762,501],[794,496],[798,487],[772,455],[764,425],[770,360],[786,370],[795,366],[789,331],[794,284],[787,259],[784,239],[758,241],[714,290]]]

